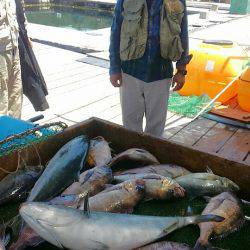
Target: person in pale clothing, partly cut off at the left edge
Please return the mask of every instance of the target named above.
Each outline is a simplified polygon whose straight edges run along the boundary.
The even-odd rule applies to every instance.
[[[0,114],[21,118],[22,100],[15,0],[0,0]]]

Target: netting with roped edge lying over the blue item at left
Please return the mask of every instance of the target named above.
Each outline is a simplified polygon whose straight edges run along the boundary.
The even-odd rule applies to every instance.
[[[45,141],[65,128],[67,128],[65,123],[55,122],[36,126],[22,133],[11,135],[0,141],[0,157],[9,155],[13,151],[26,148],[35,143]]]

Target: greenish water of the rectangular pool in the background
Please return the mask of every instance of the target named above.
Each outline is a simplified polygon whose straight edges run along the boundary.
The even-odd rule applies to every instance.
[[[112,13],[98,10],[80,10],[72,7],[39,9],[26,7],[28,22],[81,31],[96,30],[111,26]]]

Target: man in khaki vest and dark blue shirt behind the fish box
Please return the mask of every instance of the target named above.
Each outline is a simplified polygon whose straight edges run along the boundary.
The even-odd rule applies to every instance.
[[[110,37],[110,82],[120,87],[123,125],[162,136],[169,98],[185,83],[188,24],[185,0],[118,0]],[[173,76],[173,65],[177,72]]]

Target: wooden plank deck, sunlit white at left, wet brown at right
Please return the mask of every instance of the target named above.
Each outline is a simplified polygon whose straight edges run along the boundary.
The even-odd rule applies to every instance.
[[[83,63],[86,55],[68,50],[39,43],[34,43],[34,50],[49,89],[50,109],[43,112],[43,123],[72,125],[96,116],[122,124],[119,90],[109,83],[107,68]],[[36,115],[25,98],[22,118]],[[190,119],[168,112],[164,137],[250,165],[249,130],[205,118],[190,123]]]

